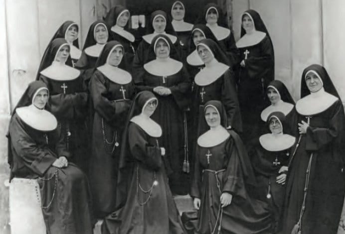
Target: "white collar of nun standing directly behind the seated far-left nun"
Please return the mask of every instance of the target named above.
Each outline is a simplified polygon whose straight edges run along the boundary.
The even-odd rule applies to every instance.
[[[49,67],[42,70],[40,73],[45,77],[57,81],[74,80],[80,75],[79,70],[57,61],[54,61]]]

